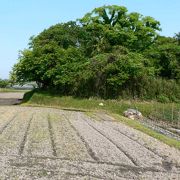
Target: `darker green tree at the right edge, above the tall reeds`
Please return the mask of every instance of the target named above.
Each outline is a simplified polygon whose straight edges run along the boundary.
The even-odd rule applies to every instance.
[[[169,79],[180,79],[180,46],[173,38],[159,37],[144,55],[151,60],[158,75]]]

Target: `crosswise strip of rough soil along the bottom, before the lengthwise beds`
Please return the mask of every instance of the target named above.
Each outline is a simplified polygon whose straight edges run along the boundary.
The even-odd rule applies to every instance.
[[[21,158],[14,159],[9,157],[10,167],[1,164],[1,169],[6,167],[6,171],[12,173],[11,168],[14,172],[18,170],[23,172],[25,170],[26,175],[29,173],[35,173],[36,177],[41,177],[37,172],[44,172],[45,177],[50,179],[56,179],[63,177],[66,179],[69,178],[68,174],[84,174],[87,177],[99,177],[102,179],[154,179],[154,177],[159,177],[159,179],[177,179],[179,174],[176,172],[167,172],[167,171],[158,171],[155,168],[142,168],[135,166],[114,166],[109,164],[97,164],[97,163],[87,163],[79,161],[66,161],[66,160],[45,160],[45,159],[36,159],[36,158]],[[0,159],[1,161],[1,159]],[[43,164],[43,166],[42,166]],[[20,173],[19,172],[19,173]],[[47,173],[45,173],[47,172]],[[37,173],[37,174],[36,174]],[[29,174],[30,175],[30,174]],[[49,175],[52,175],[49,176]],[[57,176],[54,176],[57,175]],[[31,176],[32,177],[32,176]],[[153,177],[153,178],[152,178]],[[79,176],[74,177],[79,179]],[[157,178],[158,179],[158,178]]]

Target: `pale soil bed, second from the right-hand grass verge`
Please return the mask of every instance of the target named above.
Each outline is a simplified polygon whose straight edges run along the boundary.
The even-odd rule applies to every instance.
[[[84,117],[84,116],[83,116]],[[111,126],[107,126],[104,122],[94,122],[88,117],[84,117],[86,122],[94,127],[99,133],[108,138],[112,143],[123,151],[129,158],[140,166],[162,165],[163,159],[139,145],[135,141],[127,138],[123,134],[115,131]]]

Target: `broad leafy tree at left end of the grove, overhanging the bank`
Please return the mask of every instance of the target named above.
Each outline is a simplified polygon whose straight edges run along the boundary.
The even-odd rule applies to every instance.
[[[74,22],[57,24],[31,37],[29,49],[20,52],[12,78],[20,83],[36,81],[42,87],[57,85],[65,64],[79,52],[83,56],[83,30]],[[70,51],[73,51],[70,55]],[[73,55],[74,53],[74,55]],[[79,58],[79,55],[78,55]],[[60,81],[60,80],[59,80]]]

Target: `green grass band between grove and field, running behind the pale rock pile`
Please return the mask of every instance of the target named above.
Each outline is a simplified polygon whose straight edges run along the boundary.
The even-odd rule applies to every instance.
[[[180,104],[178,103],[163,104],[155,101],[102,100],[97,98],[81,99],[71,96],[59,96],[42,91],[31,91],[27,93],[24,102],[33,105],[75,108],[80,110],[105,110],[116,114],[123,114],[128,108],[135,108],[141,111],[146,117],[151,116],[156,120],[162,120],[175,126],[180,121]],[[99,106],[101,102],[104,106]]]

